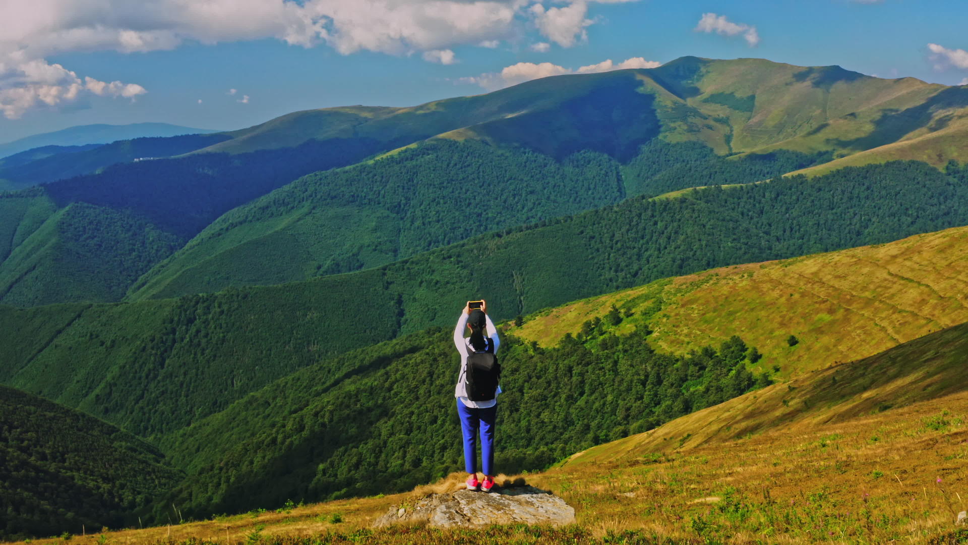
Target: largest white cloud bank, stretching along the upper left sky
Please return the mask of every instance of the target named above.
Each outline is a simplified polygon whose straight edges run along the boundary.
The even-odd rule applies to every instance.
[[[0,109],[18,116],[37,104],[93,92],[76,75],[64,76],[68,69],[45,61],[55,54],[276,39],[304,48],[326,45],[341,54],[419,53],[447,64],[456,62],[454,48],[496,48],[519,38],[526,24],[562,47],[585,41],[593,1],[626,0],[546,0],[547,8],[538,0],[4,0]],[[45,82],[50,78],[62,83]],[[136,83],[112,84],[105,93],[145,92]]]

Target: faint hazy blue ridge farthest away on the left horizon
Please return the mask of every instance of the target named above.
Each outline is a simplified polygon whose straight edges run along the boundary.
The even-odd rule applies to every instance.
[[[218,132],[221,131],[153,122],[130,123],[127,125],[108,125],[105,123],[77,125],[76,127],[23,137],[15,141],[0,144],[0,158],[45,145],[108,144],[119,140],[131,140],[134,138],[173,137]]]

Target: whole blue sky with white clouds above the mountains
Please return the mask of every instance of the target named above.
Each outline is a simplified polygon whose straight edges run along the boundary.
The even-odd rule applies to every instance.
[[[963,0],[196,0],[189,6],[5,2],[0,142],[87,123],[236,129],[297,110],[408,106],[582,67],[653,66],[682,55],[968,82]],[[599,64],[606,60],[611,66]]]

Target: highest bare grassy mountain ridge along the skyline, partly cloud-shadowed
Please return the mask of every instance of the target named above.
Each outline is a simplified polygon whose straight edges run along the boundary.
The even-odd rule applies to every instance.
[[[410,108],[292,112],[227,133],[231,141],[201,151],[236,153],[337,136],[407,145],[439,136],[558,154],[567,147],[562,141],[594,145],[628,136],[607,123],[576,126],[549,112],[580,114],[582,107],[574,99],[597,92],[604,100],[608,92],[601,87],[629,78],[638,82],[640,92],[655,98],[663,138],[698,140],[721,154],[785,148],[849,155],[943,129],[968,106],[961,104],[957,87],[913,78],[883,80],[836,66],[802,67],[755,58],[681,57],[654,69],[532,80]],[[622,116],[631,119],[639,112],[632,109]]]

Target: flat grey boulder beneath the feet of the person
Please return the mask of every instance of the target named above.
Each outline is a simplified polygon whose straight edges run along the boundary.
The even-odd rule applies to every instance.
[[[432,494],[412,504],[394,505],[374,526],[426,524],[432,527],[486,527],[529,524],[567,525],[575,522],[575,509],[560,497],[534,487],[497,492],[461,490]]]

